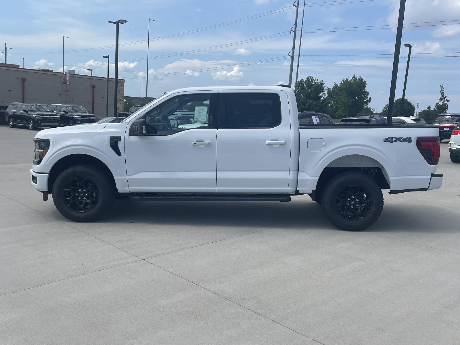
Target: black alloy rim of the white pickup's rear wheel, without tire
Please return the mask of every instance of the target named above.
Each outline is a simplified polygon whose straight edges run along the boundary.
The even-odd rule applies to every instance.
[[[340,217],[357,221],[368,216],[373,207],[372,196],[368,190],[351,184],[339,191],[335,198],[335,209]]]

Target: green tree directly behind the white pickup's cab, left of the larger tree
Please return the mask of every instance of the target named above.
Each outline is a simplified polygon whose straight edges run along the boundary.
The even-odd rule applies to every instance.
[[[297,81],[294,93],[299,111],[319,111],[322,113],[328,111],[328,98],[324,81],[310,75]]]

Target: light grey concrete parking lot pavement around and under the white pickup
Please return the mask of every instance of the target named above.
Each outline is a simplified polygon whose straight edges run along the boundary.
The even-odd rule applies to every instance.
[[[460,164],[368,230],[292,202],[115,201],[64,219],[0,127],[0,344],[459,344]],[[405,164],[401,162],[401,164]]]

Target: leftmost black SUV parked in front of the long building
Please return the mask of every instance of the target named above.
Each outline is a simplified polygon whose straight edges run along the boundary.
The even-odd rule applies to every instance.
[[[53,114],[46,104],[11,103],[5,111],[5,119],[11,128],[26,125],[34,130],[59,126],[59,116]]]

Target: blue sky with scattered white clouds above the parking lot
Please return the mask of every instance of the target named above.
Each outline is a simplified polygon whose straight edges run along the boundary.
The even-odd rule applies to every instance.
[[[295,20],[284,0],[16,0],[2,4],[0,44],[8,63],[114,75],[115,25],[120,25],[119,78],[125,96],[145,96],[150,22],[149,97],[190,86],[287,83]],[[300,0],[297,63],[304,0]],[[380,111],[388,103],[399,0],[306,0],[299,79],[332,87],[361,75]],[[434,106],[445,87],[449,111],[460,112],[460,0],[407,0],[403,44],[412,57],[406,98]],[[403,93],[408,48],[402,45],[397,97]],[[2,54],[0,60],[4,59]],[[142,92],[142,93],[141,93]]]

